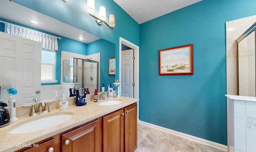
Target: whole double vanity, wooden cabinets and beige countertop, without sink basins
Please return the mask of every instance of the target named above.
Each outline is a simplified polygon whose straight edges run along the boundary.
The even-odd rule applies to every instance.
[[[67,110],[54,109],[51,115],[72,114],[66,122],[26,134],[10,134],[18,125],[37,119],[37,116],[18,118],[18,122],[0,129],[1,143],[13,144],[0,147],[0,151],[17,152],[133,152],[137,148],[137,102],[139,99],[116,97],[122,103],[100,106],[100,102],[88,102],[85,106],[68,106]],[[22,143],[22,146],[14,146]]]

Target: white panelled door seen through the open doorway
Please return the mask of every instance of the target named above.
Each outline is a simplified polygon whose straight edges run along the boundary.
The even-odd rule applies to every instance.
[[[134,76],[134,60],[133,60],[133,49],[122,51],[121,57],[121,88],[122,95],[126,97],[134,97],[134,86],[133,84],[133,76]]]

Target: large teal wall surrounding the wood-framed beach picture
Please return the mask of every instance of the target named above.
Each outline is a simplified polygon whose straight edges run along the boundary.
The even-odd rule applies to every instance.
[[[225,22],[255,0],[203,0],[140,24],[140,120],[227,144]],[[158,75],[158,50],[193,44],[194,74]]]

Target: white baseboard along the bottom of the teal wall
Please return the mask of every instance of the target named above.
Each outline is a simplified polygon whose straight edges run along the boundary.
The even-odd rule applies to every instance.
[[[189,134],[184,134],[182,132],[177,132],[175,130],[171,130],[171,129],[164,128],[164,127],[161,127],[161,126],[150,124],[148,122],[144,122],[144,121],[141,121],[141,120],[139,120],[138,122],[142,125],[149,126],[149,127],[152,127],[152,128],[156,128],[158,130],[162,130],[162,131],[165,131],[165,132],[169,132],[169,133],[174,134],[176,136],[187,138],[189,140],[193,140],[193,141],[201,143],[201,144],[206,144],[206,145],[214,147],[214,148],[218,148],[218,149],[221,149],[221,150],[224,150],[224,151],[228,151],[228,146],[223,145],[223,144],[219,144],[219,143],[216,143],[216,142],[212,142],[210,140],[205,140],[205,139],[202,139],[202,138],[191,136]]]

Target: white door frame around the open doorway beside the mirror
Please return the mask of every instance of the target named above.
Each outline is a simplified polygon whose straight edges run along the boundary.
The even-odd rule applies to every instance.
[[[121,72],[122,70],[120,70],[121,67],[121,55],[122,55],[122,44],[128,46],[129,48],[134,49],[134,98],[139,98],[139,46],[136,46],[135,44],[129,42],[128,40],[125,40],[122,37],[119,37],[119,81],[120,83],[122,83],[122,76],[121,76]],[[122,90],[122,88],[120,87],[120,90]],[[122,91],[121,91],[122,92]]]

